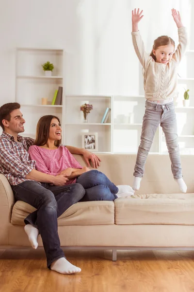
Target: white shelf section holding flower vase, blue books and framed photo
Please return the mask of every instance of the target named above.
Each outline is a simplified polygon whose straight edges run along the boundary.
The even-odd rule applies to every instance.
[[[88,114],[88,123],[83,123],[80,106],[93,105]],[[107,123],[101,124],[106,108],[112,109],[112,96],[107,95],[67,95],[65,96],[65,144],[82,147],[82,131],[98,133],[98,153],[112,153],[112,110]]]

